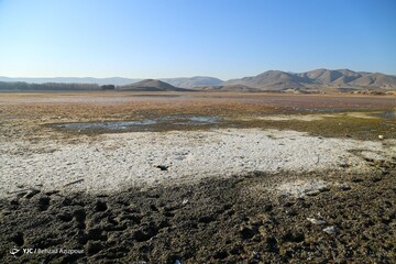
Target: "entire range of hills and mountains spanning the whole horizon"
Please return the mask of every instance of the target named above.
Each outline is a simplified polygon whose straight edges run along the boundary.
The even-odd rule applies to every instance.
[[[268,70],[263,74],[223,81],[213,77],[196,76],[190,78],[129,79],[113,78],[8,78],[0,77],[0,90],[11,82],[29,84],[90,84],[97,89],[103,85],[114,85],[117,90],[134,91],[315,91],[338,90],[350,91],[361,89],[396,90],[396,76],[381,73],[353,72],[350,69],[315,69],[305,73],[287,73]],[[30,86],[32,87],[32,86]],[[37,85],[32,89],[36,89]],[[46,84],[46,88],[48,85]],[[94,88],[94,87],[91,87]]]

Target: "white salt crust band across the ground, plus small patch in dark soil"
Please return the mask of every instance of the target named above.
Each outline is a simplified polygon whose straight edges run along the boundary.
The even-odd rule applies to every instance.
[[[366,161],[350,150],[360,147],[391,157],[396,144],[388,142],[384,146],[383,141],[321,139],[260,129],[105,134],[78,144],[7,141],[0,144],[0,196],[37,186],[43,190],[106,193],[254,170],[344,169],[340,164],[363,169]],[[321,184],[292,185],[289,191],[295,188],[298,194]]]

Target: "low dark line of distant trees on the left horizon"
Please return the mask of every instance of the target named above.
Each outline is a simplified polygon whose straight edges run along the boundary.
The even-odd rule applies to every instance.
[[[109,89],[110,87],[111,86],[101,87],[96,84],[62,84],[62,82],[28,84],[23,81],[15,81],[15,82],[0,81],[0,90],[54,90],[54,91],[101,90],[101,89]]]

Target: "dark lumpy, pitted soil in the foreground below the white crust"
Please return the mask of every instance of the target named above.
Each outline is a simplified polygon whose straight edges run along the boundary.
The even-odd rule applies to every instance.
[[[100,196],[21,191],[0,201],[0,262],[395,263],[395,164],[367,161],[376,169],[360,175],[255,172]],[[296,178],[343,185],[304,198],[271,188]],[[13,256],[14,248],[82,253]]]

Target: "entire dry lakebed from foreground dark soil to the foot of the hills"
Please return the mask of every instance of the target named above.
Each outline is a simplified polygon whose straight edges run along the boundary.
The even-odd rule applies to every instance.
[[[395,263],[395,101],[1,92],[0,262]]]

